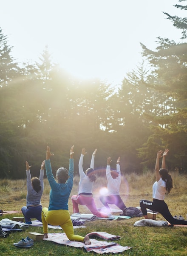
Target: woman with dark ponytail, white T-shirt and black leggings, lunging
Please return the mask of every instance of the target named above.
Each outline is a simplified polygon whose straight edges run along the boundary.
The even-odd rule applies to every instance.
[[[140,200],[140,207],[144,218],[147,219],[147,209],[155,212],[159,212],[170,224],[183,224],[187,225],[187,221],[182,219],[173,218],[167,204],[164,202],[166,193],[170,193],[173,189],[173,180],[171,175],[168,173],[165,164],[165,157],[167,156],[169,149],[165,149],[163,155],[162,150],[157,152],[155,172],[156,182],[153,184],[153,201]],[[159,159],[162,157],[161,169],[159,169]]]

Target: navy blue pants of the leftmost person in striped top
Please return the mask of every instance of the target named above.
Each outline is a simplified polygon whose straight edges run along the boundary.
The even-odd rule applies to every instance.
[[[28,221],[31,221],[31,218],[36,218],[38,221],[41,221],[42,222],[42,206],[39,205],[39,206],[36,206],[36,207],[33,207],[33,206],[29,206],[29,207],[26,207],[26,206],[23,206],[21,208],[21,211],[25,217],[25,221],[28,222]]]

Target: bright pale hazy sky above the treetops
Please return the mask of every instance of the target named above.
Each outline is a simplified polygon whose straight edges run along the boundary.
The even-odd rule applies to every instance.
[[[45,46],[54,63],[81,79],[119,86],[142,63],[140,42],[182,42],[163,12],[185,17],[178,0],[0,0],[0,28],[22,63],[39,61]]]

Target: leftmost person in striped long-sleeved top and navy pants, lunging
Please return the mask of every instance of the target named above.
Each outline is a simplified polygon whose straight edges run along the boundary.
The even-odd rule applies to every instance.
[[[41,164],[40,178],[32,177],[30,173],[31,166],[26,162],[26,175],[27,175],[27,203],[26,206],[21,208],[27,224],[32,224],[31,218],[36,218],[42,222],[42,205],[41,197],[44,189],[43,184],[43,167],[45,161]]]

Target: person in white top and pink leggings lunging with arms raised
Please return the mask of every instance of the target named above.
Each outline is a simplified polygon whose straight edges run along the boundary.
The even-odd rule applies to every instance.
[[[111,215],[108,215],[105,212],[99,212],[97,210],[96,204],[93,198],[93,194],[92,194],[92,187],[94,182],[96,181],[96,175],[94,171],[94,160],[95,160],[96,151],[97,149],[95,149],[92,154],[90,168],[88,168],[84,173],[82,164],[83,164],[83,157],[85,156],[86,151],[85,151],[85,148],[82,148],[81,156],[79,160],[79,175],[80,175],[79,192],[78,192],[78,195],[73,195],[71,197],[71,200],[73,203],[73,211],[74,213],[79,213],[78,205],[80,204],[88,207],[88,209],[97,217],[111,218],[112,217]]]

